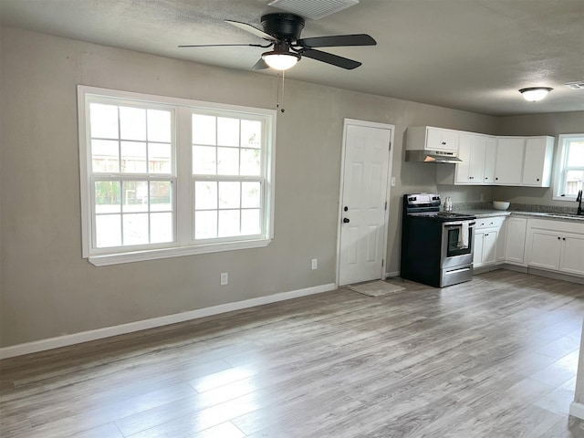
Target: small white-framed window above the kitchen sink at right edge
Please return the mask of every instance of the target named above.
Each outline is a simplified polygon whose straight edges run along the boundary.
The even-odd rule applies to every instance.
[[[584,189],[584,133],[560,134],[554,199],[574,201]]]

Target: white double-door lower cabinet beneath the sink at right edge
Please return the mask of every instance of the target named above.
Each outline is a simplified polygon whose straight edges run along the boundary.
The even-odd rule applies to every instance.
[[[584,223],[530,219],[527,266],[584,276]]]

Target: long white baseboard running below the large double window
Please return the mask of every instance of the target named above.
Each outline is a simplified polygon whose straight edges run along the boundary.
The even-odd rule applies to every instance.
[[[110,338],[112,336],[123,335],[135,331],[145,330],[147,328],[156,328],[176,324],[177,322],[189,321],[191,319],[210,317],[220,313],[240,310],[242,308],[254,308],[255,306],[262,306],[264,304],[276,303],[277,301],[285,301],[287,299],[297,297],[307,297],[308,295],[320,294],[335,290],[337,285],[329,283],[328,285],[321,285],[316,287],[307,287],[305,289],[292,290],[289,292],[280,292],[266,297],[256,297],[245,299],[244,301],[235,301],[233,303],[220,304],[210,308],[198,308],[188,312],[176,313],[164,317],[143,319],[141,321],[129,322],[127,324],[120,324],[119,326],[112,326],[106,328],[97,328],[95,330],[82,331],[71,335],[58,336],[56,338],[41,339],[33,342],[26,342],[24,344],[13,345],[0,349],[0,360],[14,358],[29,353],[36,353],[38,351],[45,351],[47,349],[58,349],[59,347],[67,347],[68,345],[80,344],[88,342],[89,340],[97,340]]]

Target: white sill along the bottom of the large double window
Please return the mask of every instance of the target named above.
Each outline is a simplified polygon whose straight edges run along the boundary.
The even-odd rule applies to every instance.
[[[226,244],[182,246],[177,248],[151,249],[131,253],[89,255],[89,263],[94,266],[120,265],[122,263],[142,262],[160,258],[181,257],[183,255],[198,255],[219,253],[221,251],[235,251],[238,249],[261,248],[270,244],[272,239],[258,239],[244,242],[230,242]]]

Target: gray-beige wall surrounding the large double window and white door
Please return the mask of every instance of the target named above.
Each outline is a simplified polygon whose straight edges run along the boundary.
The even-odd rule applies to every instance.
[[[278,80],[10,27],[1,44],[0,347],[334,283],[344,118],[395,125],[387,271],[397,272],[401,194],[439,189],[437,164],[403,162],[406,128],[497,133],[502,124],[287,79],[271,245],[96,267],[81,258],[76,86],[274,108]],[[492,190],[443,188],[460,201]]]

